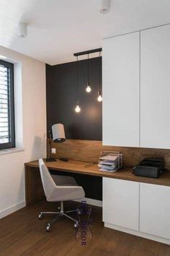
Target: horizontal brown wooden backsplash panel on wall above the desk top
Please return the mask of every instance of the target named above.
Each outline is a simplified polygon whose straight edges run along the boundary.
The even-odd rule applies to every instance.
[[[146,157],[164,158],[165,167],[170,171],[170,150],[103,146],[102,141],[97,140],[66,140],[63,143],[51,143],[52,148],[56,148],[56,154],[51,155],[54,158],[66,157],[76,161],[98,162],[101,150],[114,150],[124,154],[124,166],[135,166]]]

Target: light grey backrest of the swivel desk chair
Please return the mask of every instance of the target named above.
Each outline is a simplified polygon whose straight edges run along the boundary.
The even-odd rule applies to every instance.
[[[45,196],[48,200],[50,196],[53,194],[54,189],[57,187],[55,182],[53,181],[50,172],[48,171],[47,166],[45,166],[42,158],[39,159],[39,167],[40,167],[40,176],[42,180],[42,186],[45,192]]]

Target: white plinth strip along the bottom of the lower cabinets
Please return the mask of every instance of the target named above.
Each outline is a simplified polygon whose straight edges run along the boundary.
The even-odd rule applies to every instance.
[[[146,233],[143,233],[143,232],[140,232],[140,231],[135,231],[135,230],[132,230],[132,229],[122,228],[121,226],[117,226],[117,225],[110,224],[110,223],[107,223],[107,222],[104,222],[104,226],[106,228],[109,228],[109,229],[115,229],[115,230],[122,231],[122,232],[125,232],[125,233],[128,233],[128,234],[133,234],[134,236],[140,236],[140,237],[143,237],[143,238],[146,238],[146,239],[154,240],[156,242],[161,242],[161,243],[164,243],[164,244],[170,244],[169,239],[162,238],[160,236],[153,236],[151,234],[146,234]]]

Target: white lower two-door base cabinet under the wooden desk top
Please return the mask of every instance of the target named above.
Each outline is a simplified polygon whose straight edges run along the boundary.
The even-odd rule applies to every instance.
[[[170,187],[103,178],[104,226],[170,244]]]

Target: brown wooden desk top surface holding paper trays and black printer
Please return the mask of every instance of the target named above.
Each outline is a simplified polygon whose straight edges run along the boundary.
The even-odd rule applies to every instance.
[[[161,174],[160,178],[153,179],[142,176],[135,176],[133,172],[133,168],[121,168],[119,171],[115,173],[109,173],[107,171],[99,171],[97,164],[94,164],[89,167],[85,167],[90,163],[82,162],[82,161],[73,161],[69,160],[68,162],[63,161],[55,161],[55,162],[46,162],[46,166],[51,170],[56,171],[66,171],[72,172],[76,174],[86,174],[92,176],[102,176],[112,179],[125,179],[133,182],[143,182],[150,184],[158,184],[162,186],[170,186],[170,171],[166,171],[164,174]],[[29,163],[25,163],[26,167],[38,167],[38,161],[32,161]]]

